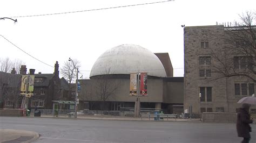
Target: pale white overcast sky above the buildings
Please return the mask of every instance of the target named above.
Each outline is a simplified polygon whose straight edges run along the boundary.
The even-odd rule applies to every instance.
[[[69,58],[81,62],[80,73],[88,78],[97,58],[107,49],[134,44],[153,53],[170,55],[174,76],[184,74],[183,28],[234,22],[245,11],[255,12],[255,0],[44,0],[0,1],[0,58],[20,59],[36,73],[53,73],[55,62],[62,67]],[[103,10],[94,10],[102,9]],[[87,11],[93,10],[93,11]],[[83,12],[75,12],[83,11]],[[59,15],[44,15],[64,13]],[[19,17],[32,16],[32,17]],[[47,63],[45,65],[35,58]],[[62,76],[60,76],[62,77]]]

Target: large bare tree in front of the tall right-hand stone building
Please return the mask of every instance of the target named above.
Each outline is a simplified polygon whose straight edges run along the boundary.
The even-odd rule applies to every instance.
[[[239,15],[241,22],[235,22],[234,27],[225,27],[222,49],[211,49],[215,62],[212,73],[219,73],[218,78],[240,76],[256,82],[256,26],[253,26],[255,13],[246,12]]]

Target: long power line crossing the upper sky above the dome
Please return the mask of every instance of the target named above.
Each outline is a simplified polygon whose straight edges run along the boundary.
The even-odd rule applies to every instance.
[[[109,7],[109,8],[100,8],[100,9],[90,9],[90,10],[80,10],[80,11],[69,11],[69,12],[59,12],[59,13],[48,13],[48,14],[41,14],[41,15],[14,16],[14,17],[11,17],[11,18],[64,15],[64,14],[69,14],[69,13],[88,12],[88,11],[98,11],[98,10],[108,10],[108,9],[117,9],[117,8],[126,8],[126,7],[131,7],[131,6],[148,5],[148,4],[156,4],[156,3],[165,3],[165,2],[170,2],[170,1],[174,1],[174,0],[160,1],[160,2],[152,2],[152,3],[142,3],[142,4],[132,4],[132,5],[123,5],[123,6],[114,6],[114,7]]]

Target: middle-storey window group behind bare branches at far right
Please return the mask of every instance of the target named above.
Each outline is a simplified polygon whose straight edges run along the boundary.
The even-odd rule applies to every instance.
[[[234,56],[233,58],[234,62],[234,69],[251,69],[253,70],[253,58],[252,56]]]

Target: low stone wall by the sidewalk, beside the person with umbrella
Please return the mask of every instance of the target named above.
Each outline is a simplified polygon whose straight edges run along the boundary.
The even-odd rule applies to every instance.
[[[202,120],[203,122],[235,123],[237,113],[204,112],[202,113]]]

